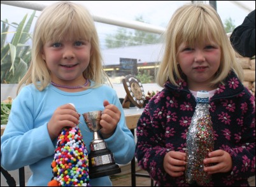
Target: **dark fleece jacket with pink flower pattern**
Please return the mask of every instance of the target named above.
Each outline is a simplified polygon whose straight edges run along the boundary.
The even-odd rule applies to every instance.
[[[179,87],[166,82],[164,89],[146,105],[136,129],[136,158],[157,186],[196,186],[185,177],[171,177],[163,167],[169,151],[185,152],[186,133],[196,107],[187,83]],[[215,150],[232,157],[232,171],[213,174],[209,186],[248,186],[255,176],[255,97],[231,73],[210,99],[210,114],[215,132]]]

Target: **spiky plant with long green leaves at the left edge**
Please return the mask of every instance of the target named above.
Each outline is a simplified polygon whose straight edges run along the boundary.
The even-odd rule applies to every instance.
[[[27,72],[31,60],[31,46],[27,41],[31,39],[29,31],[36,11],[33,11],[31,17],[27,20],[27,15],[20,24],[8,23],[8,20],[1,20],[1,84],[16,84]],[[15,27],[13,38],[7,41],[11,27]]]

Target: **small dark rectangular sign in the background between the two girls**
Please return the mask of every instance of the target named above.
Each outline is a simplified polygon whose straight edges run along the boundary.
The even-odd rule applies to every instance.
[[[137,59],[120,58],[120,71],[136,75],[138,73]]]

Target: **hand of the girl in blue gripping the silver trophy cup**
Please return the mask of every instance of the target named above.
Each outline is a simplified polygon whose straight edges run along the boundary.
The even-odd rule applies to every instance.
[[[117,127],[117,123],[120,120],[121,112],[118,107],[110,104],[108,100],[104,100],[103,105],[105,107],[103,114],[101,116],[101,135],[104,139],[110,137]]]

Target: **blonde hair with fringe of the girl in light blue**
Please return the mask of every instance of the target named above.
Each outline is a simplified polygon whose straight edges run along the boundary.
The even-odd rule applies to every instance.
[[[18,84],[17,93],[24,83],[33,83],[40,91],[48,86],[51,82],[51,73],[42,59],[41,50],[46,42],[61,41],[64,38],[90,41],[92,55],[83,76],[94,81],[95,87],[106,81],[110,83],[103,69],[99,38],[89,11],[81,5],[60,1],[46,7],[36,22],[32,38],[31,64]]]

